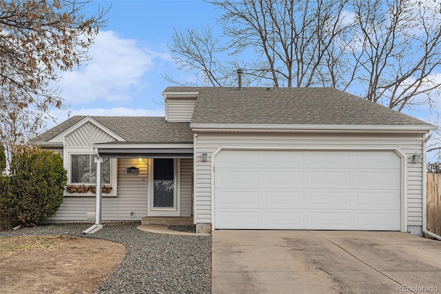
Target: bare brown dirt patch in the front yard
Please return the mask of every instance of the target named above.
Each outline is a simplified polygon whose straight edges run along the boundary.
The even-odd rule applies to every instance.
[[[0,238],[1,293],[93,293],[124,255],[122,244],[101,239]]]

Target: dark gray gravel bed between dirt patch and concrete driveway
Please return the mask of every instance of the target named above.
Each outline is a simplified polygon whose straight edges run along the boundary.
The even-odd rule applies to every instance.
[[[0,232],[0,237],[72,235],[124,244],[123,262],[95,293],[211,293],[211,237],[139,231],[139,222],[104,224],[101,231],[83,235],[91,225],[49,224]]]

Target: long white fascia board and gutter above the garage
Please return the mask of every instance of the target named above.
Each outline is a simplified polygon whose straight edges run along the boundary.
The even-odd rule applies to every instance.
[[[312,133],[354,133],[354,132],[378,132],[378,133],[427,133],[437,130],[438,126],[390,126],[390,125],[293,125],[293,124],[190,124],[193,131],[243,131],[243,132],[312,132]]]

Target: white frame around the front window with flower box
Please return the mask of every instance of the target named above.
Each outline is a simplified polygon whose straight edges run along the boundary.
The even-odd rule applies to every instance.
[[[72,183],[72,156],[71,155],[92,155],[94,157],[94,148],[85,148],[85,147],[69,147],[64,149],[63,153],[63,162],[64,168],[68,171],[68,184],[69,185],[81,185],[82,183]],[[110,193],[102,193],[103,197],[116,197],[117,190],[117,159],[110,158],[110,184],[103,184],[105,186],[112,186],[112,190]],[[85,186],[95,186],[96,183],[86,184]],[[87,197],[95,197],[95,194],[88,191],[87,193],[69,193],[67,190],[64,191],[64,196],[87,196]]]

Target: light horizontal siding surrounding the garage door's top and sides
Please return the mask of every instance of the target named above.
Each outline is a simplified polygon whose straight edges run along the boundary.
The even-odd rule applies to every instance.
[[[198,133],[194,180],[195,222],[212,222],[211,155],[220,146],[253,148],[399,148],[407,157],[422,153],[422,135]],[[202,161],[201,153],[208,153]],[[407,161],[407,160],[406,160]],[[422,163],[407,164],[407,226],[422,226]],[[215,166],[216,168],[216,166]]]

